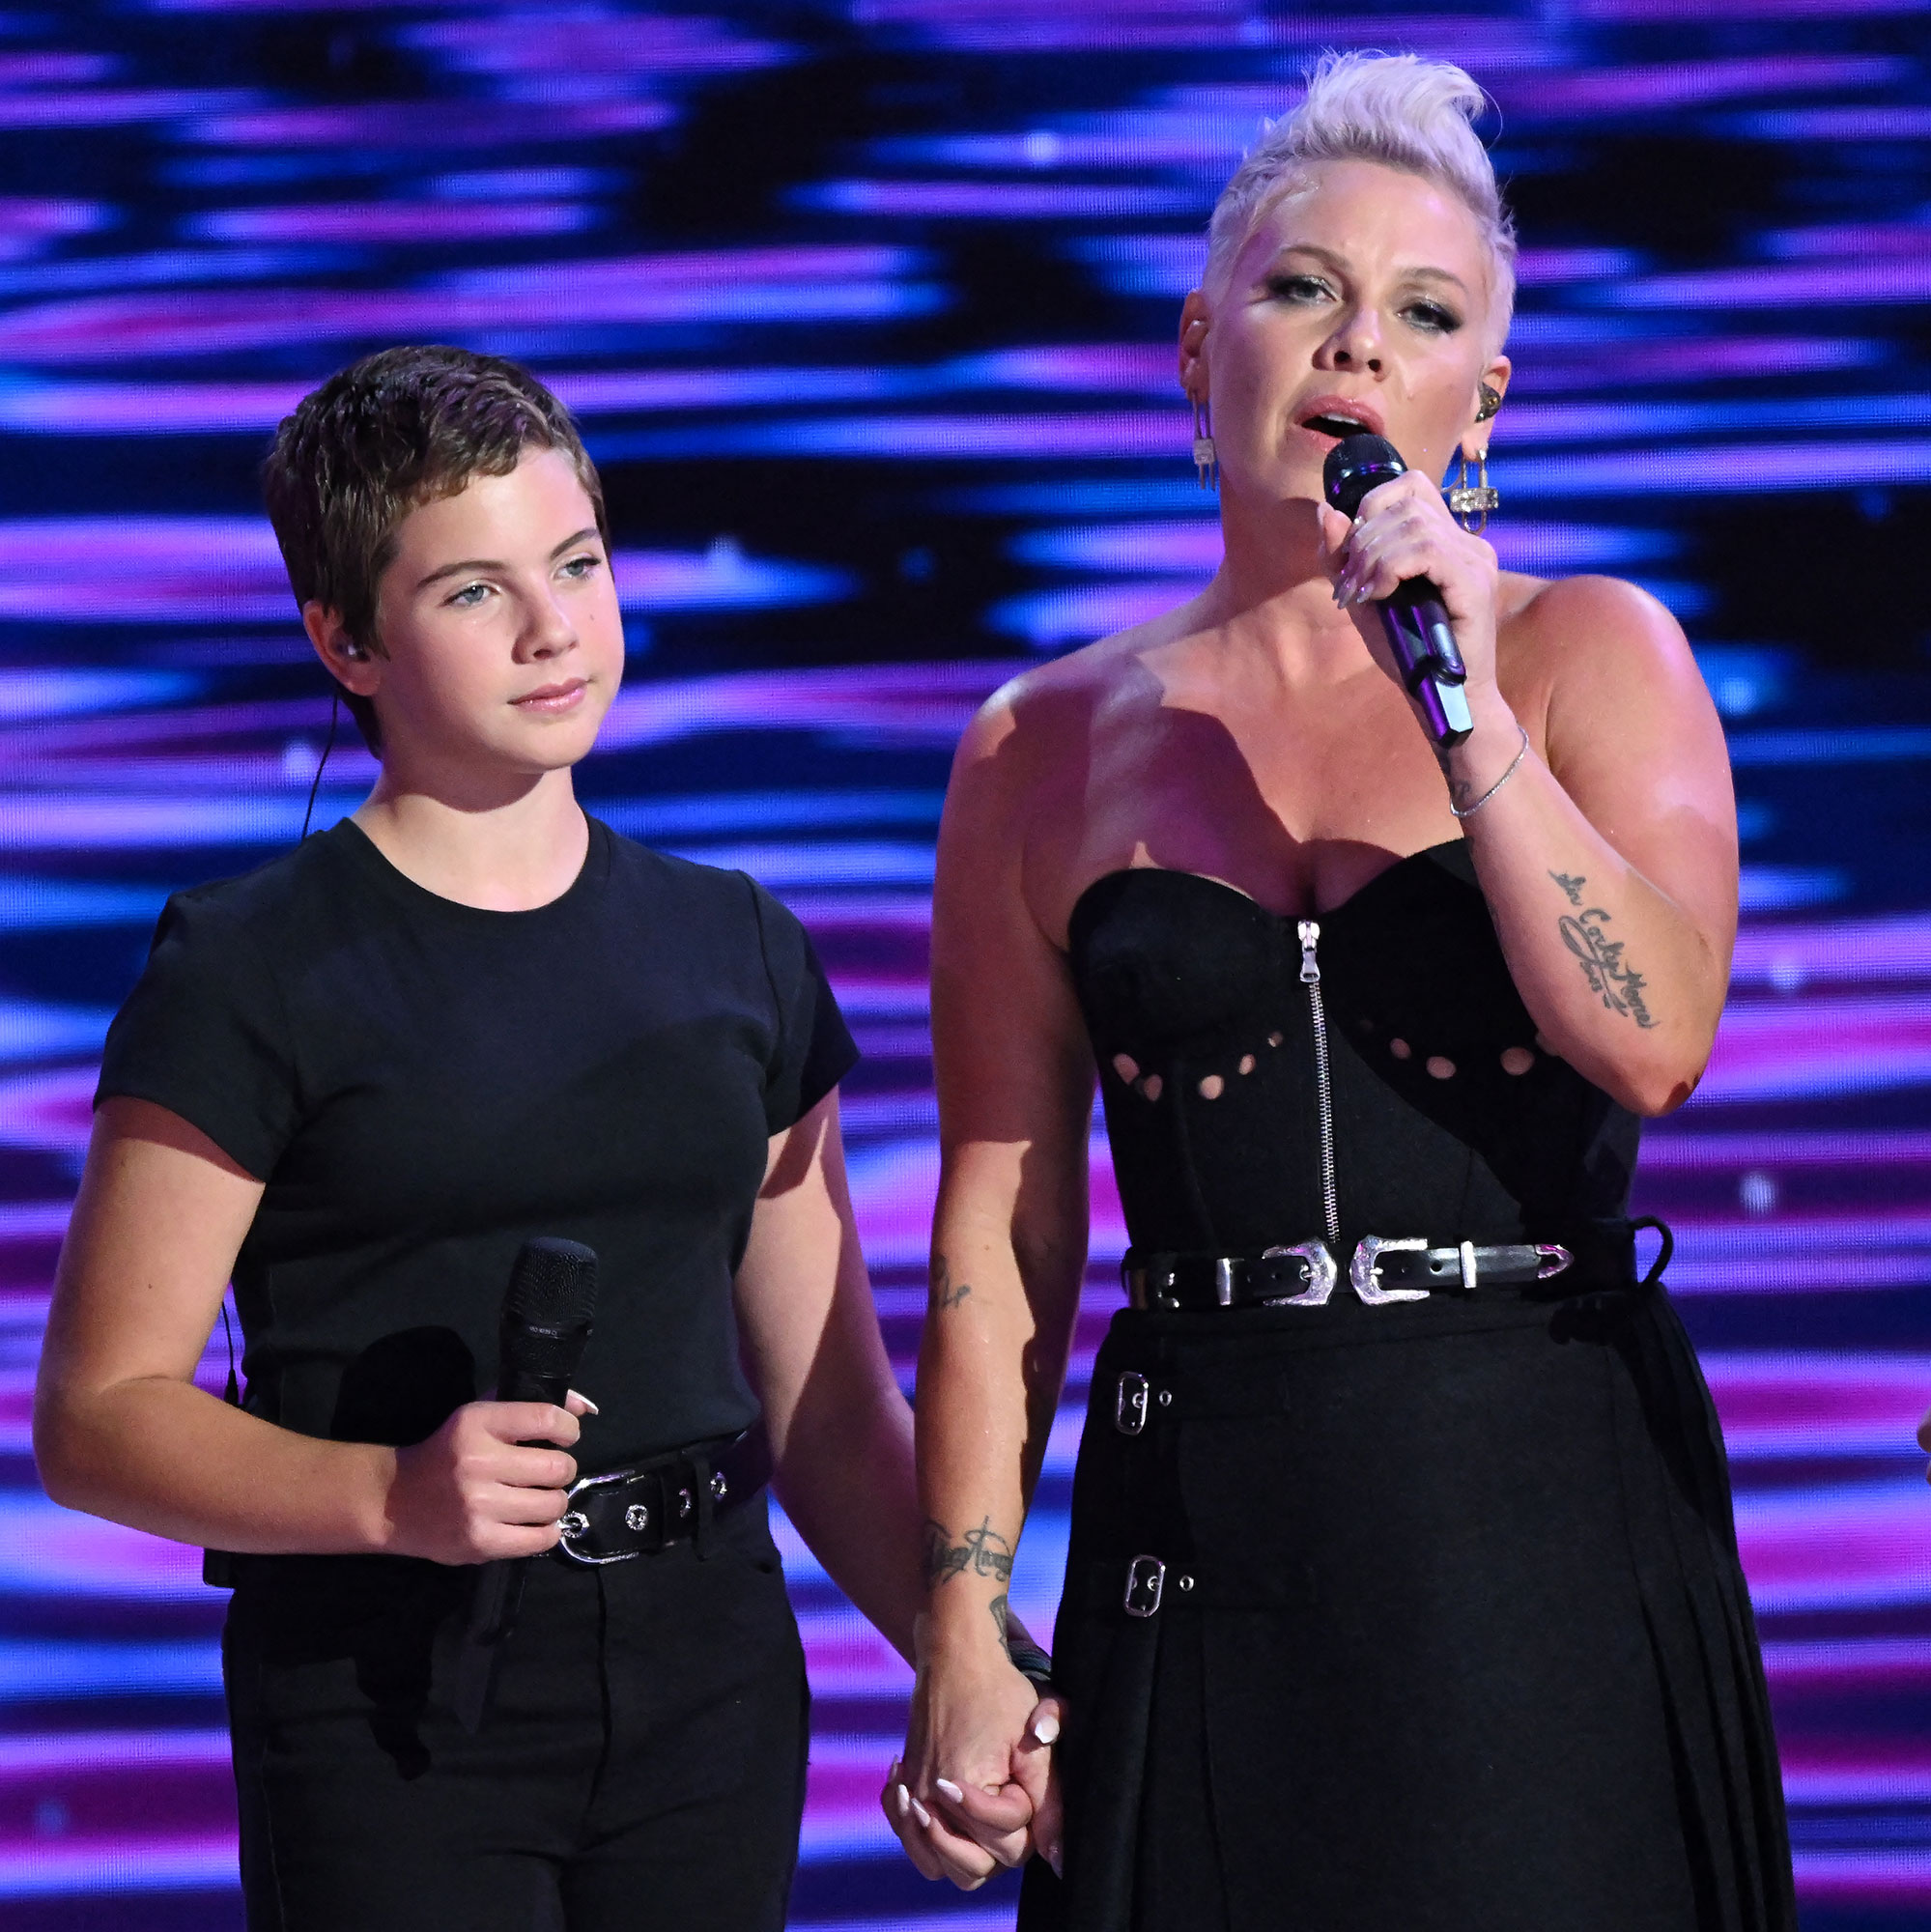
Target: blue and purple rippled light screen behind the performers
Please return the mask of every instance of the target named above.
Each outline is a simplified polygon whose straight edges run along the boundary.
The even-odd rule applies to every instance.
[[[1493,537],[1653,589],[1730,734],[1730,1009],[1639,1198],[1728,1428],[1805,1924],[1931,1913],[1923,0],[118,0],[0,8],[0,1922],[239,1926],[224,1596],[54,1509],[27,1420],[108,1016],[172,889],[297,837],[328,724],[257,504],[274,421],[404,340],[577,410],[630,641],[583,792],[817,933],[910,1385],[946,761],[1016,667],[1213,570],[1176,311],[1325,46],[1495,95],[1525,251]],[[371,775],[344,730],[319,821]],[[1039,1629],[1118,1304],[1093,1171]],[[1008,1924],[1010,1884],[927,1888],[886,1837],[908,1675],[780,1534],[817,1690],[794,1922]]]

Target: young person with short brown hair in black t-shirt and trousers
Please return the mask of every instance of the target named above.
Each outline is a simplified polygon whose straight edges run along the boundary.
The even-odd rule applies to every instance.
[[[282,425],[268,500],[382,771],[162,914],[60,1262],[42,1478],[234,1553],[253,1932],[776,1928],[807,1696],[763,1470],[902,1650],[919,1588],[840,1151],[855,1049],[774,898],[575,800],[624,636],[539,383],[373,355]],[[599,1254],[595,1403],[481,1399],[535,1235]],[[193,1383],[230,1279],[239,1408]],[[693,1507],[550,1561],[610,1470]],[[473,1565],[502,1557],[543,1561],[471,1733]]]

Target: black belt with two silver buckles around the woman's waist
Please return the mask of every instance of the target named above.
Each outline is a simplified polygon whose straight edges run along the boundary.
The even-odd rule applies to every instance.
[[[1120,1281],[1133,1308],[1321,1308],[1340,1285],[1340,1267],[1323,1240],[1259,1254],[1130,1250]],[[1367,1235],[1348,1262],[1348,1287],[1369,1308],[1431,1294],[1533,1300],[1537,1291],[1568,1296],[1632,1283],[1628,1242],[1601,1238],[1572,1250],[1553,1240],[1431,1246],[1425,1236]]]

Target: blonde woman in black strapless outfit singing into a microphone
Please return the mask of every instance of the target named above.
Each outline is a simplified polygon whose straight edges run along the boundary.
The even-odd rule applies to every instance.
[[[1321,64],[1180,317],[1218,574],[1008,684],[952,773],[884,1808],[962,1886],[1039,1853],[1027,1932],[1796,1924],[1722,1439],[1628,1213],[1722,1009],[1730,773],[1655,599],[1498,570],[1437,487],[1508,423],[1479,106],[1458,68]],[[1352,437],[1394,450],[1350,516]],[[1460,684],[1404,684],[1381,605],[1415,578]],[[1041,1704],[1000,1638],[1095,1070],[1130,1306]]]

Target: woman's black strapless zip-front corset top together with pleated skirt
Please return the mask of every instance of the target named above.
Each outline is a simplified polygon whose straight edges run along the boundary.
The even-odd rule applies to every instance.
[[[1054,1642],[1066,1880],[1035,1861],[1020,1924],[1788,1932],[1722,1437],[1630,1265],[1637,1121],[1537,1047],[1460,842],[1315,923],[1174,871],[1074,910],[1135,1250],[1323,1240],[1340,1283],[1114,1320]],[[1365,1235],[1622,1262],[1365,1306]]]

